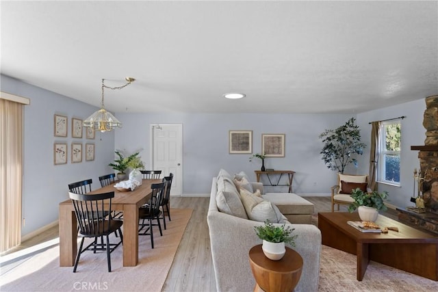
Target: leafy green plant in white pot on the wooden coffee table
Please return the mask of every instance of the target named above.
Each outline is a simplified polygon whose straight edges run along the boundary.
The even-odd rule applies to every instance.
[[[352,190],[351,198],[354,201],[348,206],[348,211],[351,213],[357,209],[362,221],[374,222],[377,220],[378,211],[386,211],[388,209],[383,202],[383,200],[388,198],[387,191],[382,193],[372,191],[368,193],[358,187]]]

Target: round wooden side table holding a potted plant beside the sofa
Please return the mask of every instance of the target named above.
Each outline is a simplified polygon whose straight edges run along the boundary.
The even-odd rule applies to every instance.
[[[292,248],[279,261],[272,261],[263,254],[261,244],[249,251],[249,263],[255,278],[254,291],[290,292],[300,280],[302,257]]]

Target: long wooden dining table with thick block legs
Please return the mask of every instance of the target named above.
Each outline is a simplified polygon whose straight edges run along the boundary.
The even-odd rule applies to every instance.
[[[112,211],[123,211],[123,266],[138,264],[138,209],[149,202],[151,185],[161,179],[144,179],[142,185],[133,191],[118,191],[114,184],[101,187],[87,194],[102,194],[114,191]],[[109,200],[108,200],[109,202]],[[109,209],[109,204],[107,205]],[[77,254],[77,221],[70,199],[60,202],[60,267],[71,267]]]

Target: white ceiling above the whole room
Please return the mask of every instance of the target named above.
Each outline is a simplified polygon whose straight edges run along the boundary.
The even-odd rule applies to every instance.
[[[136,78],[116,112],[360,113],[438,94],[437,3],[2,0],[1,73],[96,106]]]

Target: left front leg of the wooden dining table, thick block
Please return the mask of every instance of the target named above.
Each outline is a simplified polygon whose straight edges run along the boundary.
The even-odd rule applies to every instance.
[[[60,267],[73,267],[77,254],[77,222],[72,205],[60,205]]]

